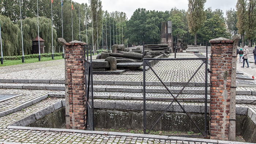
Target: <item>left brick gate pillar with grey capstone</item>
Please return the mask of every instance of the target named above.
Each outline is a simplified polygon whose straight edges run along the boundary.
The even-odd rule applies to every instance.
[[[86,128],[84,45],[72,41],[65,48],[66,128]]]

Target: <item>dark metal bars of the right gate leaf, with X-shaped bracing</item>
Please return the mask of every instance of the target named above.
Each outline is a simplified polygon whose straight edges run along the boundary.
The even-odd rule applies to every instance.
[[[150,131],[154,128],[154,126],[157,124],[157,122],[160,120],[160,118],[165,114],[165,112],[170,108],[170,106],[173,104],[174,101],[180,105],[181,109],[187,114],[189,119],[193,122],[193,124],[196,126],[197,129],[202,133],[203,137],[207,136],[207,70],[208,70],[208,46],[206,46],[206,58],[176,58],[176,52],[175,52],[175,58],[143,58],[143,131],[144,134],[149,134]],[[143,43],[143,56],[144,56],[144,43]],[[177,96],[174,96],[172,92],[170,92],[169,88],[165,85],[165,83],[159,78],[157,73],[153,70],[153,68],[150,66],[148,61],[181,61],[181,60],[202,60],[202,64],[199,66],[199,68],[195,71],[195,73],[192,75],[192,77],[188,80],[188,82],[184,85],[184,87],[180,90],[180,92],[177,94]],[[159,81],[162,83],[162,85],[166,88],[166,90],[169,92],[169,94],[173,98],[146,98],[146,69],[145,66],[147,66],[153,71],[153,73],[157,76]],[[191,79],[195,76],[195,74],[199,71],[199,69],[205,64],[205,97],[204,98],[177,98],[182,91],[185,89],[185,87],[188,85],[188,83],[191,81]],[[147,100],[172,100],[171,104],[167,106],[165,111],[162,113],[162,115],[158,118],[158,120],[154,123],[154,125],[146,132],[146,101]],[[197,124],[192,120],[192,118],[189,116],[189,114],[186,112],[186,110],[182,107],[180,102],[178,100],[205,100],[204,102],[204,129],[205,131],[203,132]],[[192,137],[192,136],[190,136]],[[196,136],[196,137],[202,137],[202,136]]]

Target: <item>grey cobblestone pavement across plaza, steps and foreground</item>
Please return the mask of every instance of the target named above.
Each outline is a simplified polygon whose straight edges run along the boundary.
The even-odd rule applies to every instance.
[[[196,57],[193,54],[178,54],[179,57],[189,58]],[[173,55],[171,56],[171,58]],[[158,63],[154,66],[154,69],[160,76],[164,79],[164,81],[187,81],[188,78],[191,77],[193,71],[197,69],[196,66],[201,64],[202,61],[186,61],[185,66],[181,63],[181,61],[175,61],[173,63]],[[169,70],[163,70],[162,67],[168,65],[169,69],[174,69],[174,67],[179,66],[181,69],[176,70],[175,72]],[[188,70],[189,68],[192,68]],[[254,70],[254,69],[253,69]],[[23,65],[15,65],[15,66],[5,66],[0,67],[0,79],[64,79],[64,60],[56,60],[54,62],[40,62],[40,63],[30,63]],[[204,68],[199,69],[199,73],[195,75],[195,78],[192,79],[193,82],[204,82]],[[147,71],[148,78],[157,81],[156,77],[153,76],[152,71]],[[179,79],[178,77],[181,77]],[[103,81],[142,81],[143,74],[142,71],[132,71],[125,72],[122,75],[94,75],[94,80],[103,80]],[[1,83],[3,84],[3,83]],[[4,85],[48,85],[48,86],[64,86],[63,84],[42,84],[42,83],[4,83]],[[111,87],[111,86],[109,86]],[[121,87],[121,86],[119,86]],[[140,87],[142,86],[132,86],[132,87]],[[158,86],[157,86],[158,87]],[[150,88],[150,86],[148,86]],[[156,88],[156,87],[154,87]],[[177,87],[180,88],[180,87]],[[193,89],[193,88],[190,88]],[[200,88],[199,88],[200,89]],[[238,90],[255,90],[252,87],[238,87]],[[33,100],[34,98],[43,96],[48,93],[58,93],[64,94],[64,91],[61,90],[30,90],[30,89],[0,89],[0,93],[6,94],[22,94],[18,97],[11,98],[9,100],[0,102],[0,112],[3,112],[8,109],[15,108],[27,101]],[[96,95],[124,95],[125,93],[117,93],[117,92],[96,92]],[[127,94],[127,93],[126,93]],[[132,95],[136,95],[138,93],[131,93]],[[142,93],[139,93],[142,94]],[[150,94],[148,96],[151,96]],[[162,97],[165,97],[165,94],[161,94]],[[186,94],[181,95],[186,97]],[[255,99],[255,96],[246,96],[239,95],[238,98],[251,98]],[[31,105],[27,108],[24,108],[18,112],[14,112],[3,117],[0,117],[0,143],[6,144],[8,143],[22,143],[22,144],[38,144],[38,143],[54,143],[54,144],[83,144],[83,143],[95,143],[95,144],[225,144],[225,141],[217,141],[217,140],[204,140],[204,139],[189,139],[189,138],[181,138],[181,137],[168,137],[168,136],[156,136],[156,135],[136,135],[136,134],[127,134],[127,133],[114,133],[114,132],[89,132],[89,131],[49,131],[44,129],[33,130],[31,129],[13,129],[7,128],[8,125],[12,124],[33,114],[39,110],[46,108],[49,105],[52,105],[58,101],[64,100],[64,98],[46,98],[34,105]],[[127,102],[132,103],[142,103],[142,100],[126,100]],[[124,102],[124,100],[102,100],[98,99],[95,102]],[[150,102],[148,102],[150,103]],[[169,104],[168,102],[158,102],[159,104]],[[181,102],[182,105],[191,105],[192,103]],[[194,103],[194,105],[202,105],[200,103]],[[248,104],[237,104],[237,107],[249,107],[256,110],[255,105]],[[177,140],[178,139],[178,140]]]

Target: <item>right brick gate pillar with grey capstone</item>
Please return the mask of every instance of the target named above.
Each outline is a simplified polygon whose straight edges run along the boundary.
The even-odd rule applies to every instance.
[[[210,43],[210,139],[228,140],[233,40],[217,38]]]

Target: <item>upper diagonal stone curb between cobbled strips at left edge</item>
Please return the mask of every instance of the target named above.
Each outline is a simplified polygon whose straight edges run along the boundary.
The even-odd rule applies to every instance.
[[[3,112],[0,112],[0,117],[3,117],[3,116],[6,116],[7,114],[10,114],[10,113],[14,113],[14,112],[18,112],[19,110],[22,110],[23,108],[26,108],[30,105],[33,105],[41,100],[44,100],[45,98],[48,97],[48,94],[45,94],[43,96],[40,96],[40,97],[37,97],[33,100],[30,100],[30,101],[27,101],[19,106],[16,106],[14,108],[11,108],[11,109],[8,109],[8,110],[4,110]]]

